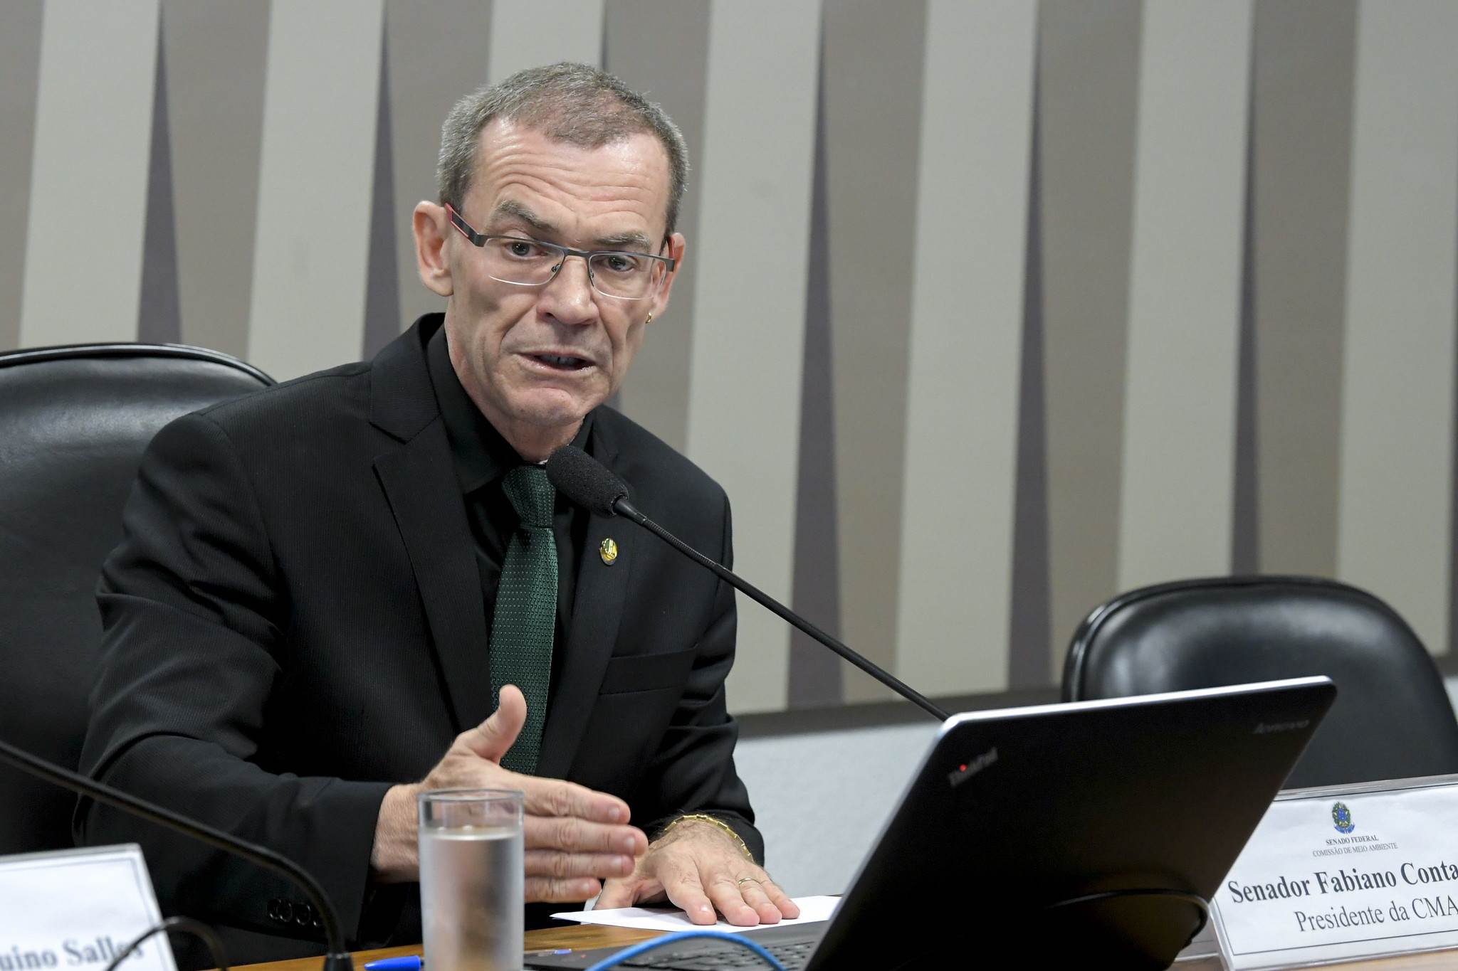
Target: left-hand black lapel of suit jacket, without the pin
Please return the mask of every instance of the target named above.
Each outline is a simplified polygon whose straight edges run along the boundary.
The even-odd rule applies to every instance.
[[[456,731],[464,731],[491,713],[493,697],[481,576],[426,365],[424,345],[439,326],[440,314],[421,317],[375,358],[370,422],[401,443],[375,459],[375,475],[410,555]]]

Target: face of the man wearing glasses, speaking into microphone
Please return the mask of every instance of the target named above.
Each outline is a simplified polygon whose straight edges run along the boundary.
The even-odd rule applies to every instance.
[[[496,119],[481,132],[461,215],[488,236],[682,259],[682,236],[662,246],[668,186],[668,157],[652,135],[582,148]],[[462,384],[519,448],[519,440],[566,441],[623,383],[644,320],[668,304],[672,275],[652,298],[620,300],[593,290],[586,263],[569,256],[545,285],[506,284],[488,275],[486,253],[464,234],[449,223],[440,229],[445,326]]]

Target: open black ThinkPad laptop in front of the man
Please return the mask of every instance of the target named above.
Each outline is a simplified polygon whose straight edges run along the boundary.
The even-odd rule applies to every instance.
[[[968,967],[999,951],[1168,967],[1334,697],[1311,677],[955,715],[834,916],[745,935],[802,971]],[[588,968],[615,951],[525,964]],[[623,967],[767,965],[700,939]]]

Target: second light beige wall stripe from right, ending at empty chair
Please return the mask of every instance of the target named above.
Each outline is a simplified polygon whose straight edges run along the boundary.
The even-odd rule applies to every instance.
[[[1118,582],[1231,565],[1251,3],[1145,4]]]

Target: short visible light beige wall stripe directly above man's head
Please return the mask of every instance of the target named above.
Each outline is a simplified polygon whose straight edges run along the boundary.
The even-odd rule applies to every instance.
[[[602,60],[604,0],[493,0],[490,80],[555,61]]]

